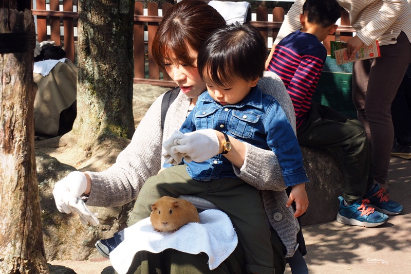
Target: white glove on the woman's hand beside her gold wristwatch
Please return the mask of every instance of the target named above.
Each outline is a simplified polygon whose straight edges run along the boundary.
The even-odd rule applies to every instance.
[[[220,151],[217,134],[212,129],[198,130],[184,135],[184,138],[177,140],[178,145],[172,147],[171,152],[181,153],[186,162],[203,162]]]

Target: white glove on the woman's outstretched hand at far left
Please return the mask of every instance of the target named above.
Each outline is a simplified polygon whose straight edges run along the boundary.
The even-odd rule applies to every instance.
[[[56,182],[53,189],[53,196],[57,209],[62,213],[77,212],[83,224],[89,222],[97,226],[99,220],[97,213],[93,214],[87,208],[80,196],[86,191],[87,179],[80,171],[70,172],[66,177]]]

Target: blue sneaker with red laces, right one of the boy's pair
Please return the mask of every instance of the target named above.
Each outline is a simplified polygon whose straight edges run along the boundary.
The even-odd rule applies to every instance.
[[[378,211],[387,215],[397,215],[402,212],[404,207],[390,199],[384,188],[380,188],[378,184],[374,185],[370,191],[365,193],[365,199],[369,199],[369,203]]]

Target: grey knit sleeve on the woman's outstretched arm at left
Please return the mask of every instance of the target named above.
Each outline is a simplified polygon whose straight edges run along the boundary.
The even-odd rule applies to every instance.
[[[163,131],[162,96],[148,109],[131,142],[118,155],[116,163],[103,172],[87,172],[91,190],[87,205],[114,207],[135,199],[144,181],[160,170]]]

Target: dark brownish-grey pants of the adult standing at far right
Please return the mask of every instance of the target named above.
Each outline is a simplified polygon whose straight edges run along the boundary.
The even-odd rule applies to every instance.
[[[380,51],[379,58],[354,62],[352,100],[371,143],[373,177],[384,184],[394,143],[391,103],[411,62],[411,43],[401,32],[397,44]]]

